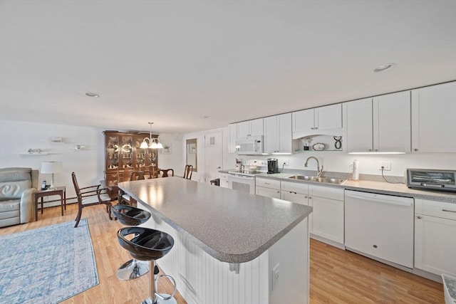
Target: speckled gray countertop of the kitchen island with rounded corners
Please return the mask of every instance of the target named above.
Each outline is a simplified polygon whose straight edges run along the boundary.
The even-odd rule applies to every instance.
[[[166,177],[118,187],[217,260],[252,261],[312,211],[309,206]]]

